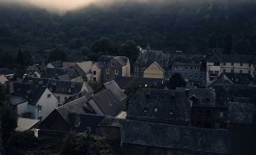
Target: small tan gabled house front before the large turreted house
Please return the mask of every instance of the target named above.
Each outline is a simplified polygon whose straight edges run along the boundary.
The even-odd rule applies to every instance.
[[[145,71],[144,78],[161,78],[164,79],[165,71],[164,69],[154,61]]]

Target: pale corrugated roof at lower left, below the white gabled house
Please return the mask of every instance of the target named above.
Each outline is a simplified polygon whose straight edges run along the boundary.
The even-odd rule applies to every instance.
[[[17,119],[17,128],[15,131],[26,131],[31,129],[33,126],[35,126],[40,120],[34,120],[34,119],[29,119],[29,118],[20,118],[18,117]]]

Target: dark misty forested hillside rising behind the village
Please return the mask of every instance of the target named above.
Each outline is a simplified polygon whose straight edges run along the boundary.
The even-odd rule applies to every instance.
[[[255,0],[156,0],[89,5],[59,16],[34,6],[0,6],[0,47],[91,49],[101,37],[134,40],[152,49],[205,53],[209,34],[224,48],[230,32],[233,51],[256,54]]]

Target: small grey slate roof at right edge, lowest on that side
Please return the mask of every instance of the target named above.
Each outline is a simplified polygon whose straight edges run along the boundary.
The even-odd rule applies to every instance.
[[[252,124],[256,107],[252,103],[228,102],[228,121],[243,124]]]

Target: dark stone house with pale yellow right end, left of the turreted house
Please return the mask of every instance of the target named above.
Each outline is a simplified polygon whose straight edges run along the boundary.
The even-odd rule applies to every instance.
[[[130,61],[127,57],[102,55],[97,62],[102,64],[102,82],[110,82],[117,77],[130,77]]]

